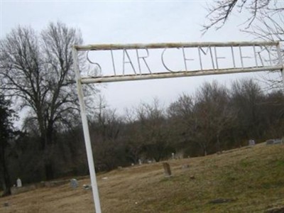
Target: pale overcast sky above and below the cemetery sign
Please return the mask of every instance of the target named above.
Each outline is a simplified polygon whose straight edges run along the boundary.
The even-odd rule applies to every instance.
[[[79,28],[84,44],[164,43],[253,40],[239,31],[246,15],[234,14],[219,31],[202,36],[207,4],[212,1],[5,1],[1,0],[1,38],[18,25],[36,31],[50,21]],[[195,91],[203,82],[230,84],[258,74],[185,77],[167,80],[109,83],[102,95],[111,108],[122,112],[154,97],[167,106],[179,94]]]

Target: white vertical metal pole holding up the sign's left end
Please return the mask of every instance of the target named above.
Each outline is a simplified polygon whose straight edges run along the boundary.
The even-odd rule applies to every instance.
[[[73,55],[73,60],[74,60],[77,92],[78,92],[78,98],[79,98],[79,103],[80,103],[82,126],[83,126],[83,131],[84,131],[84,143],[86,146],[87,159],[88,159],[88,165],[89,165],[89,175],[90,175],[91,183],[92,183],[94,207],[96,209],[96,213],[102,213],[101,204],[99,202],[99,191],[97,188],[96,172],[94,170],[94,159],[93,159],[93,153],[92,153],[91,139],[89,138],[89,126],[88,126],[88,121],[87,121],[86,108],[84,104],[84,94],[83,94],[81,75],[80,75],[80,70],[79,70],[78,53],[75,47],[72,48],[72,55]]]

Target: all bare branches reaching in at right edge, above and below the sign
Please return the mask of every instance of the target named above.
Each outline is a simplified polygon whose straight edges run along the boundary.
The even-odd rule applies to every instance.
[[[209,23],[203,25],[203,33],[206,33],[212,27],[215,27],[215,29],[222,28],[231,14],[237,11],[241,15],[249,13],[249,18],[244,23],[246,27],[241,31],[254,35],[256,39],[284,40],[284,1],[223,0],[210,4],[207,6],[207,10]],[[284,60],[283,50],[280,52],[280,57]],[[273,50],[271,50],[271,53],[273,53]],[[274,54],[278,55],[278,50],[275,49]],[[277,62],[275,61],[275,63]],[[284,75],[281,72],[273,71],[267,74],[261,75],[261,79],[268,85],[268,89],[283,87]]]

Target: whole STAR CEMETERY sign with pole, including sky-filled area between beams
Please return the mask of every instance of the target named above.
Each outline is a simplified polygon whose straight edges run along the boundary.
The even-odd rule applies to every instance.
[[[80,68],[85,56],[88,69]],[[283,71],[280,42],[75,45],[73,59],[96,212],[101,212],[82,84]],[[85,67],[85,66],[84,66]]]

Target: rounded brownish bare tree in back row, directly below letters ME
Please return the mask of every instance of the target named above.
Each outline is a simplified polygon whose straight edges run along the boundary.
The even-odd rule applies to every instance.
[[[219,86],[217,82],[205,83],[197,91],[192,136],[195,136],[195,142],[203,149],[204,155],[212,144],[217,146],[217,151],[221,150],[221,133],[234,122],[235,114],[229,106],[228,93],[226,87]]]

